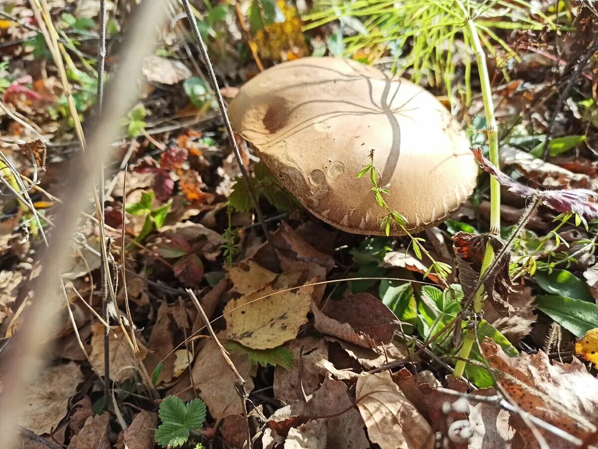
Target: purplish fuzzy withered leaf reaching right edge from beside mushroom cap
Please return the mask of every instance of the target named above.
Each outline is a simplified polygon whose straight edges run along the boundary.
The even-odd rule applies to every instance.
[[[472,149],[475,158],[487,173],[495,176],[498,182],[508,190],[520,197],[536,197],[542,203],[560,213],[573,212],[583,216],[585,219],[598,218],[598,193],[587,189],[571,190],[537,190],[526,185],[513,181],[497,167],[493,166],[483,155],[480,148]]]

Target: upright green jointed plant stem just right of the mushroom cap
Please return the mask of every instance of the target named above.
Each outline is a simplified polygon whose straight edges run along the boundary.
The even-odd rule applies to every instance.
[[[475,50],[475,61],[478,66],[478,74],[480,76],[480,85],[482,91],[482,98],[484,101],[484,114],[486,115],[486,124],[488,127],[488,147],[490,153],[490,162],[496,167],[499,166],[498,160],[498,132],[496,130],[496,118],[494,115],[494,104],[492,100],[492,89],[490,87],[490,76],[488,74],[488,66],[486,65],[486,54],[484,48],[480,42],[480,36],[475,26],[475,22],[468,11],[465,10],[459,0],[457,4],[462,9],[466,17],[466,30],[467,37],[471,42],[472,47]],[[498,234],[501,230],[501,185],[494,176],[490,176],[490,233]],[[494,259],[494,249],[490,243],[486,245],[486,251],[484,252],[484,258],[482,261],[482,267],[480,270],[480,277],[483,276],[484,272],[490,267]],[[484,286],[480,288],[474,294],[474,313],[480,313],[484,306]],[[475,318],[474,318],[475,319]],[[455,332],[459,332],[460,329],[456,329]],[[475,329],[469,328],[463,338],[463,346],[459,351],[459,358],[454,367],[454,377],[462,377],[465,371],[465,360],[469,358],[469,353],[475,342]]]

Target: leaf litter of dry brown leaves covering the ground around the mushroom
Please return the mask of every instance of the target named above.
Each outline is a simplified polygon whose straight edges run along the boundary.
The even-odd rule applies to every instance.
[[[89,93],[95,89],[93,71],[88,73],[83,62],[86,54],[96,51],[95,41],[84,37],[96,30],[99,11],[92,3],[81,2],[71,11],[77,17],[71,19],[72,14],[63,11],[64,2],[48,1],[61,39],[66,39],[67,46],[72,42],[68,51],[78,57],[69,64],[69,80],[78,112],[85,120],[94,102]],[[263,17],[259,11],[256,17],[258,3],[264,7]],[[219,75],[225,81],[222,91],[227,97],[239,91],[229,83],[238,84],[257,74],[263,63],[258,63],[260,56],[268,59],[264,60],[267,65],[293,59],[307,54],[307,44],[332,54],[343,42],[343,33],[349,36],[350,30],[365,29],[360,17],[347,16],[340,29],[318,26],[306,40],[294,7],[280,1],[242,4],[239,17],[243,20],[243,14],[247,15],[247,23],[243,23],[247,29],[234,19],[236,11],[227,10],[224,4],[211,11],[197,11],[198,23],[205,27],[202,33],[210,39],[210,51],[218,54]],[[108,2],[108,10],[114,14],[111,36],[124,23],[126,14],[119,8]],[[19,114],[15,117],[25,117],[27,126],[0,112],[2,130],[11,141],[25,142],[10,145],[2,140],[2,154],[8,155],[23,176],[38,176],[35,187],[39,190],[32,190],[33,201],[51,219],[57,200],[44,192],[61,191],[65,185],[61,167],[78,148],[73,144],[63,88],[48,76],[54,73],[54,66],[35,37],[41,36],[35,31],[38,24],[19,2],[3,11],[11,17],[0,22],[0,45],[10,62],[8,66],[0,64],[2,101],[11,114]],[[573,8],[568,14],[582,17],[584,11]],[[260,25],[258,18],[264,23]],[[585,27],[592,20],[580,22]],[[559,134],[551,139],[548,160],[538,157],[545,136],[519,136],[517,124],[501,148],[502,169],[484,157],[486,148],[474,149],[483,169],[504,186],[501,212],[505,222],[518,221],[528,198],[538,198],[542,206],[483,283],[490,301],[484,306],[485,321],[478,323],[478,332],[492,325],[499,331],[493,334],[495,340],[503,346],[510,341],[521,355],[509,357],[494,341],[479,341],[481,354],[471,366],[486,370],[487,362],[498,384],[473,385],[446,377],[458,354],[451,344],[467,330],[465,311],[457,313],[457,324],[437,340],[420,338],[419,329],[449,325],[444,320],[446,310],[438,307],[437,316],[432,317],[435,322],[426,321],[430,316],[422,312],[422,302],[429,296],[429,286],[422,288],[420,282],[431,281],[440,287],[439,292],[446,285],[434,274],[423,277],[428,262],[417,256],[409,240],[387,239],[378,245],[380,240],[341,233],[306,215],[294,198],[272,182],[271,173],[264,174],[264,164],[257,162],[254,149],[239,139],[243,162],[254,175],[252,185],[269,215],[270,227],[277,228],[271,234],[276,254],[271,251],[261,231],[254,228],[251,212],[247,212],[251,203],[243,197],[240,183],[231,193],[239,170],[214,119],[212,94],[197,72],[194,50],[180,33],[181,25],[182,21],[173,22],[173,29],[164,29],[164,48],[145,59],[144,104],[130,114],[129,120],[135,123],[124,126],[139,134],[114,144],[122,164],[109,184],[106,223],[115,260],[111,265],[114,311],[118,308],[127,321],[112,326],[109,333],[113,402],[105,404],[102,398],[104,329],[91,312],[100,312],[99,229],[89,220],[74,240],[71,269],[63,274],[89,307],[68,286],[66,300],[72,321],[65,307],[62,326],[54,335],[55,347],[48,352],[52,360],[39,372],[24,399],[25,413],[18,422],[34,435],[23,430],[23,447],[48,447],[44,443],[52,447],[56,442],[74,449],[152,449],[175,438],[177,444],[188,447],[193,447],[191,441],[221,447],[224,440],[228,447],[241,448],[247,444],[248,426],[256,441],[272,448],[538,447],[536,435],[521,414],[501,405],[503,392],[506,399],[514,401],[513,407],[578,438],[586,447],[594,447],[598,426],[598,398],[594,397],[598,391],[598,277],[592,242],[596,233],[593,220],[598,216],[598,166],[592,146],[595,98],[571,96],[567,100],[567,114],[559,116],[554,125]],[[280,41],[264,44],[268,33]],[[74,35],[82,39],[71,41]],[[533,48],[541,48],[539,42],[548,39],[542,33],[533,36],[537,42],[526,44]],[[15,39],[25,44],[14,44]],[[249,52],[249,59],[238,53],[240,47],[231,45],[246,42],[255,49],[253,39],[263,48],[258,46],[253,56]],[[514,48],[524,47],[526,39],[530,37],[522,37]],[[570,55],[570,47],[575,45],[566,42],[563,57]],[[542,57],[550,61],[545,56],[548,50],[541,50]],[[386,50],[380,47],[380,51]],[[361,51],[353,56],[370,62],[375,59],[373,53],[368,56]],[[523,56],[529,59],[530,54]],[[257,58],[255,64],[251,57]],[[501,57],[507,61],[511,56]],[[39,60],[44,61],[43,69],[32,63]],[[14,65],[14,61],[19,63]],[[508,111],[523,111],[527,101],[542,95],[545,84],[550,87],[547,81],[523,80],[528,75],[522,63],[512,64],[516,66],[513,74],[522,79],[495,89],[496,95],[507,95],[496,109],[501,127],[508,122]],[[535,67],[542,74],[551,69],[546,62]],[[589,69],[582,74],[585,80],[595,75],[594,66]],[[462,75],[456,72],[455,76]],[[529,84],[531,87],[526,87]],[[580,82],[576,89],[581,96],[588,86]],[[537,125],[546,122],[542,114],[547,112],[547,105],[542,104],[529,117],[518,114],[524,124]],[[471,115],[460,118],[463,123],[472,122],[474,134],[486,133],[484,124],[473,125],[477,117]],[[50,142],[38,139],[37,127]],[[551,130],[542,132],[550,135]],[[473,143],[475,147],[480,142]],[[2,169],[3,179],[10,181],[6,172]],[[448,281],[454,282],[458,273],[463,303],[475,294],[486,245],[490,242],[500,251],[513,230],[507,228],[501,239],[476,231],[487,228],[483,216],[489,207],[484,195],[481,187],[450,223],[426,232],[429,242],[423,243],[434,258],[456,265]],[[0,223],[0,361],[7,364],[13,351],[11,341],[36,300],[30,297],[28,285],[38,275],[32,261],[41,251],[39,230],[32,227],[29,212],[19,207],[15,198],[3,198],[7,201],[2,204]],[[245,210],[231,206],[240,203]],[[293,205],[290,209],[289,204]],[[577,214],[581,232],[570,237],[575,230],[571,223],[564,232],[551,231],[556,226],[554,215],[569,212]],[[558,223],[559,216],[556,218]],[[584,232],[581,226],[586,224]],[[455,258],[447,245],[451,237]],[[121,248],[121,238],[126,248]],[[368,250],[360,252],[363,243]],[[539,247],[541,251],[533,252]],[[228,259],[225,254],[232,256]],[[532,259],[538,265],[536,276],[529,271],[513,276],[522,261]],[[126,280],[117,276],[120,263]],[[354,292],[359,281],[344,282],[352,273],[396,279],[385,281],[385,289],[377,288],[377,280],[367,279],[362,285],[369,287]],[[192,288],[200,297],[224,350],[205,331],[205,322],[185,288]],[[381,301],[385,291],[390,291],[389,296],[399,295],[399,300]],[[552,330],[542,330],[548,328]],[[239,379],[225,355],[245,381],[246,403],[239,398]],[[588,363],[582,364],[575,355]],[[182,399],[186,407],[182,414],[164,413],[170,395]],[[199,399],[203,406],[195,402]],[[165,423],[168,425],[162,429],[175,425],[175,430],[181,430],[184,426],[177,423],[187,419],[188,409],[193,416],[187,434],[164,436],[161,432],[165,430],[156,434]],[[570,442],[555,436],[550,427],[539,432],[550,447],[570,447]]]

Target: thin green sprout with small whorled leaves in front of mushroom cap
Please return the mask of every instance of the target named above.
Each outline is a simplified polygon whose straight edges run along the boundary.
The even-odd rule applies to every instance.
[[[376,166],[374,165],[374,149],[370,151],[370,163],[365,164],[364,168],[361,169],[359,173],[357,173],[357,179],[362,178],[362,176],[364,176],[366,173],[370,174],[370,181],[373,185],[371,191],[373,191],[374,195],[376,196],[376,202],[380,207],[383,207],[388,211],[388,214],[382,219],[382,222],[380,223],[380,227],[384,228],[386,236],[388,237],[390,235],[390,226],[392,225],[392,223],[397,225],[399,228],[401,228],[405,235],[411,239],[411,242],[409,243],[405,251],[409,251],[409,248],[413,246],[413,252],[415,253],[418,259],[422,260],[423,253],[432,262],[432,265],[430,265],[428,270],[426,270],[426,273],[423,275],[423,277],[427,277],[432,272],[432,270],[434,270],[434,273],[438,277],[440,277],[440,279],[446,280],[447,275],[451,273],[453,268],[449,264],[436,261],[434,257],[432,257],[432,255],[425,248],[425,246],[423,246],[422,243],[420,243],[425,242],[425,240],[421,237],[413,237],[413,235],[411,235],[407,228],[405,228],[405,225],[407,225],[407,219],[396,210],[390,209],[390,207],[386,203],[386,200],[384,199],[383,195],[389,195],[390,192],[387,188],[380,187],[378,185],[379,173],[377,172]]]

